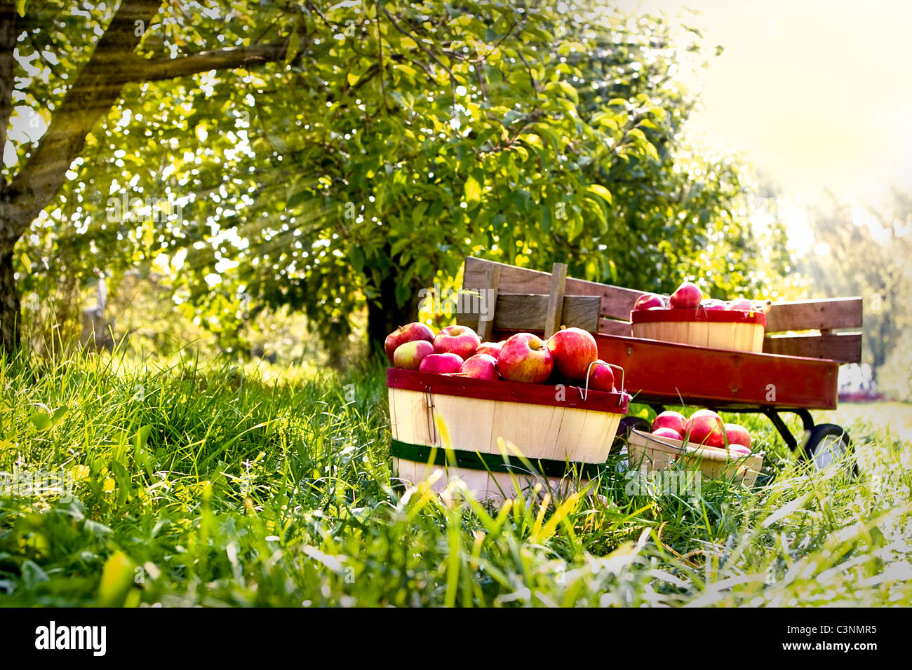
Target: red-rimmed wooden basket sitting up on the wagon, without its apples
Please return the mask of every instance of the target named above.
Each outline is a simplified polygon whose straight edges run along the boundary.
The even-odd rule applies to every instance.
[[[710,349],[763,351],[766,314],[761,311],[648,309],[630,313],[633,336]]]

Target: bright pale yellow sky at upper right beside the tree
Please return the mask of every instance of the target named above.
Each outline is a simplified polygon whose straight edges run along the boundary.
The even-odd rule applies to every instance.
[[[625,9],[681,0],[619,0]],[[798,199],[912,188],[912,1],[689,0],[710,58],[691,129]]]

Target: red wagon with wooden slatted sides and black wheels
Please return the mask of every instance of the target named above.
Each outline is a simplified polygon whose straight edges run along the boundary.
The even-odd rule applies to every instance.
[[[550,335],[559,325],[590,331],[599,357],[626,370],[635,402],[657,412],[669,405],[760,412],[789,448],[821,467],[850,445],[843,428],[815,425],[810,410],[835,409],[840,364],[861,359],[861,298],[772,304],[762,352],[754,353],[634,337],[629,317],[643,292],[568,278],[560,263],[544,273],[469,257],[462,289],[480,299],[461,300],[457,321],[482,340],[522,331]],[[786,426],[787,413],[801,418],[803,436]],[[622,428],[645,423],[626,417]]]

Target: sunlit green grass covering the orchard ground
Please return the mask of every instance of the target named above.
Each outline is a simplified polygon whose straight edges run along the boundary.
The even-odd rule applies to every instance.
[[[754,490],[630,490],[613,459],[600,496],[486,509],[390,488],[380,368],[0,363],[0,603],[912,603],[908,407],[845,410],[820,419],[848,417],[857,479],[742,415]],[[52,470],[73,500],[23,490]]]

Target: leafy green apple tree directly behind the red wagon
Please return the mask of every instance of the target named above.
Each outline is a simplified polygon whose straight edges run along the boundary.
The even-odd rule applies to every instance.
[[[757,283],[741,165],[684,144],[675,69],[696,47],[662,19],[429,2],[311,20],[254,95],[265,156],[241,171],[282,179],[264,171],[228,223],[228,281],[256,304],[304,309],[329,341],[367,304],[380,342],[467,253],[657,290]]]

